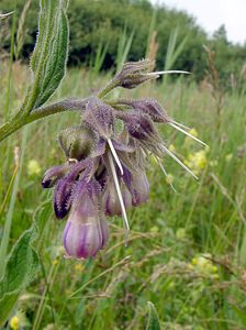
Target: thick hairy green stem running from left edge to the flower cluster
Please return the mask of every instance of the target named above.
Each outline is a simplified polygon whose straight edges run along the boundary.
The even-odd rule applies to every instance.
[[[32,111],[30,114],[23,113],[20,110],[11,120],[0,127],[0,141],[16,132],[27,123],[40,120],[47,116],[67,110],[83,110],[87,101],[88,99],[66,99],[46,107],[38,108]]]

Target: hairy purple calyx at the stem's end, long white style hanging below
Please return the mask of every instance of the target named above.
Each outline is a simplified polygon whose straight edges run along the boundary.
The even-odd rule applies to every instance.
[[[97,98],[88,101],[83,121],[101,138],[109,139],[113,124],[113,109]]]

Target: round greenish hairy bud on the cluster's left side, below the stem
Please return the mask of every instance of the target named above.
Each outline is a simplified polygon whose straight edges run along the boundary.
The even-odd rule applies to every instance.
[[[85,160],[91,152],[96,136],[86,125],[68,128],[60,132],[58,141],[67,158]]]

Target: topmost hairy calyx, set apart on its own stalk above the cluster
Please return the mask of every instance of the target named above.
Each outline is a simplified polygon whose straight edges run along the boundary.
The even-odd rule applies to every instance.
[[[158,77],[158,75],[150,74],[153,67],[154,62],[149,59],[125,63],[114,79],[118,86],[132,89],[147,80]]]

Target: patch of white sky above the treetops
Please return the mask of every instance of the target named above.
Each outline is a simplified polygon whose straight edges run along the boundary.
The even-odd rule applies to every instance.
[[[234,43],[246,42],[246,0],[150,0],[176,9],[185,9],[212,34],[225,24],[227,38]]]

